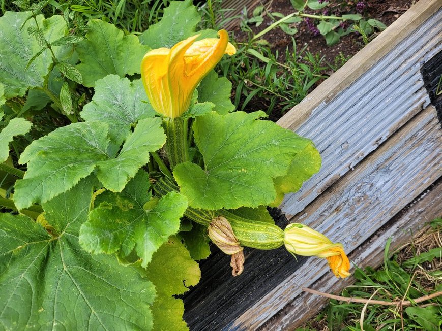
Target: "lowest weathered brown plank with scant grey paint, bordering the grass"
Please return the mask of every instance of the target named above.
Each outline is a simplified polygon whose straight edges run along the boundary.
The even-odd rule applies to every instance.
[[[442,215],[442,180],[423,193],[417,201],[401,211],[384,227],[372,235],[366,242],[354,250],[349,258],[359,268],[378,266],[384,259],[384,247],[389,238],[392,239],[390,252],[408,242],[412,234],[416,235],[423,224]],[[322,276],[311,287],[326,293],[338,293],[351,285],[354,278],[336,282],[333,278]],[[262,326],[263,330],[294,329],[313,317],[328,299],[322,296],[303,292],[295,300],[287,304],[272,319]]]

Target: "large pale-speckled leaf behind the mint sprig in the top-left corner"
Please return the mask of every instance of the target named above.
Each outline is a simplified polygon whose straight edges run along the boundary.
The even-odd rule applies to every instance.
[[[34,19],[27,20],[30,15],[30,12],[6,12],[0,17],[0,81],[5,85],[7,99],[23,96],[29,88],[43,87],[44,77],[52,63],[48,49],[31,61],[42,47],[29,35],[28,27],[36,27]],[[36,19],[44,38],[49,42],[60,38],[67,30],[62,16],[54,15],[44,19],[43,15],[37,15]],[[72,55],[70,45],[54,46],[52,50],[60,61]],[[31,64],[25,70],[30,61]]]

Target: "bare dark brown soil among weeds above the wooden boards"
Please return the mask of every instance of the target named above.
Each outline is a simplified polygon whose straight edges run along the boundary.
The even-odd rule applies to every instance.
[[[373,18],[381,21],[385,25],[389,26],[392,24],[401,14],[407,11],[411,5],[416,3],[415,0],[372,0],[372,1],[364,1],[364,9],[359,12],[364,15],[365,18]],[[262,2],[267,12],[274,13],[278,12],[283,15],[288,15],[293,13],[295,10],[290,4],[289,0],[272,0],[270,2]],[[310,10],[307,13],[315,14],[315,15],[336,15],[341,16],[343,14],[353,14],[357,13],[357,5],[358,1],[330,1],[329,6],[321,10]],[[249,9],[249,17],[252,13],[252,9]],[[273,21],[269,17],[269,15],[263,14],[264,21],[258,27],[255,27],[254,24],[250,25],[254,34],[260,32],[267,26],[269,26]],[[348,24],[348,23],[343,23]],[[309,24],[309,21],[303,20],[299,23],[294,23],[291,27],[296,27],[298,29],[298,33],[294,35],[294,39],[296,40],[297,50],[298,52],[305,48],[306,51],[311,52],[312,54],[319,54],[324,58],[325,62],[331,65],[330,70],[328,70],[325,74],[331,75],[334,70],[339,69],[344,62],[345,59],[350,58],[355,55],[358,51],[360,51],[364,46],[363,38],[357,32],[352,32],[346,36],[341,37],[340,42],[333,45],[327,46],[325,38],[321,35],[317,35],[317,31],[315,33],[312,30],[312,23]],[[313,25],[314,26],[314,25]],[[239,24],[237,24],[233,28],[233,34],[238,41],[244,41],[247,39],[246,32],[240,29]],[[375,32],[374,34],[369,36],[369,40],[374,39],[379,32]],[[268,32],[263,36],[263,39],[266,39],[270,45],[272,50],[276,53],[279,53],[278,61],[285,61],[285,50],[288,48],[289,52],[293,52],[293,42],[292,36],[286,34],[280,28],[276,28]],[[299,59],[301,62],[303,61],[301,58]],[[310,89],[309,92],[312,91],[317,85],[319,85],[322,80],[316,82]],[[234,95],[233,95],[234,97]],[[244,96],[241,97],[241,102],[245,99]],[[245,111],[256,111],[256,110],[266,110],[268,109],[270,101],[266,97],[254,97],[247,105]],[[283,100],[279,104],[283,104]],[[275,106],[274,110],[271,114],[269,114],[269,118],[273,121],[277,121],[284,113],[288,110],[282,112],[281,109],[283,106]],[[241,103],[240,103],[241,105]],[[295,106],[296,103],[290,105],[291,107]]]

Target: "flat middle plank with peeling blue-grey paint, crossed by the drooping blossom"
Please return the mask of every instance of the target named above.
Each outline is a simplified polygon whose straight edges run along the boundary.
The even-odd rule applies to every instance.
[[[440,123],[429,106],[291,221],[312,226],[351,252],[435,182],[441,163]],[[334,278],[318,258],[308,259],[302,269],[279,279],[229,329],[256,329],[292,302],[302,286],[326,273]]]

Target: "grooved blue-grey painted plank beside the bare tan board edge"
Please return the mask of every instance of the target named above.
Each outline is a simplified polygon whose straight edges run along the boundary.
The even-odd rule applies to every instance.
[[[420,69],[422,63],[442,50],[441,41],[442,9],[333,100],[323,96],[309,117],[297,124],[297,133],[316,144],[322,156],[322,168],[300,191],[285,198],[281,209],[287,215],[304,209],[429,104]],[[344,67],[346,65],[351,69],[350,62]],[[301,103],[290,113],[304,106]],[[294,128],[290,116],[278,123]]]

